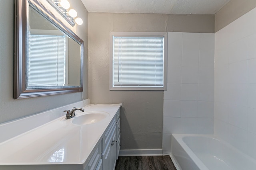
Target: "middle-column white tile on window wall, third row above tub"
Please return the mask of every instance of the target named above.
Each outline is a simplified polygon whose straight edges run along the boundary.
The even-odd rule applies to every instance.
[[[182,84],[181,99],[198,100],[198,84]]]

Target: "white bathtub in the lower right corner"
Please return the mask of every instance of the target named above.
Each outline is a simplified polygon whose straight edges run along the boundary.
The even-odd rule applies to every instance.
[[[171,158],[180,170],[256,170],[256,160],[213,135],[172,134]]]

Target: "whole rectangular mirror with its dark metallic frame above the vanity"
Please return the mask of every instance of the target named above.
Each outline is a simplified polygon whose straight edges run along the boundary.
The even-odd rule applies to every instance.
[[[14,99],[82,92],[83,41],[40,0],[16,0]]]

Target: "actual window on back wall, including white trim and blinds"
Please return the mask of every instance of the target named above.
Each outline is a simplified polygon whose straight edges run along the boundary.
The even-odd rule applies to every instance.
[[[110,32],[110,90],[166,90],[167,34]]]

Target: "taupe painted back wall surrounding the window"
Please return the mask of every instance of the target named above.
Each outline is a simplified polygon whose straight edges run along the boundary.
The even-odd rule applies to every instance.
[[[109,32],[214,32],[213,15],[88,14],[88,96],[122,103],[121,149],[162,149],[163,91],[109,90]]]

